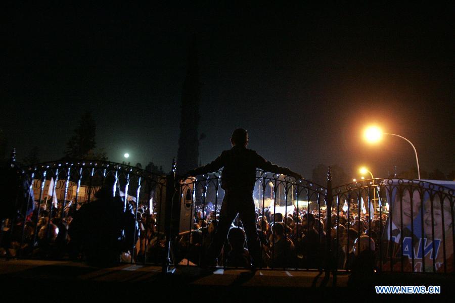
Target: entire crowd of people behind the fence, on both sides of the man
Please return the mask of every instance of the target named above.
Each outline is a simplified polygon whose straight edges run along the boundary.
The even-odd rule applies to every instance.
[[[164,257],[164,230],[157,224],[159,214],[147,205],[133,201],[122,212],[123,202],[115,211],[110,198],[103,194],[90,204],[65,208],[59,203],[36,205],[26,218],[3,221],[0,233],[0,256],[87,260],[112,263],[117,260],[159,264]],[[109,206],[108,206],[109,204]],[[115,205],[115,203],[114,203]],[[111,209],[111,211],[108,211]],[[39,215],[38,215],[39,210]],[[200,265],[214,239],[220,207],[196,206],[192,230],[180,233],[173,249],[173,262]],[[126,215],[122,215],[126,214]],[[119,217],[120,216],[120,217]],[[386,218],[383,218],[384,222]],[[338,269],[375,266],[379,221],[367,216],[332,214],[332,254]],[[25,226],[24,226],[25,223]],[[338,223],[338,224],[337,224]],[[271,214],[268,208],[256,209],[256,227],[261,245],[262,266],[270,268],[324,267],[327,218],[325,211],[297,210],[284,217]],[[119,240],[120,239],[120,240]],[[252,257],[246,248],[242,221],[237,217],[223,245],[218,266],[248,267]],[[359,241],[359,243],[357,243]],[[115,244],[112,244],[115,242]],[[365,256],[364,256],[365,255]],[[363,258],[363,259],[362,259]],[[363,260],[362,265],[358,265]],[[357,263],[356,263],[357,261]]]

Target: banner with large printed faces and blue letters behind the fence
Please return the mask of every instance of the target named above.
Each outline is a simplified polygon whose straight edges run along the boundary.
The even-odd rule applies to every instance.
[[[448,188],[396,179],[386,187],[389,217],[381,239],[382,270],[453,272],[454,208]]]

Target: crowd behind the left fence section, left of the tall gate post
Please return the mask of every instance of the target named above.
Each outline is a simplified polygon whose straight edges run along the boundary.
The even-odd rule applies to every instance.
[[[151,213],[148,205],[136,208],[134,201],[124,204],[124,195],[112,197],[107,191],[102,188],[90,203],[70,207],[62,201],[57,208],[49,201],[38,207],[35,201],[27,217],[2,220],[0,257],[70,259],[97,265],[130,262],[131,258],[161,262],[164,235],[158,235],[157,213]]]

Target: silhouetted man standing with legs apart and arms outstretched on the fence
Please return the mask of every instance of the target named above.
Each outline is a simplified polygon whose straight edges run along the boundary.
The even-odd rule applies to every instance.
[[[256,231],[256,210],[253,201],[253,189],[256,182],[256,168],[264,171],[284,174],[296,179],[302,176],[288,168],[279,167],[265,161],[256,151],[246,148],[248,133],[242,128],[234,130],[231,136],[232,148],[224,150],[210,164],[188,171],[186,176],[207,174],[223,168],[221,187],[225,190],[219,214],[218,229],[207,252],[208,265],[215,265],[232,222],[239,214],[247,236],[248,250],[253,257],[253,266],[261,261],[259,238]]]

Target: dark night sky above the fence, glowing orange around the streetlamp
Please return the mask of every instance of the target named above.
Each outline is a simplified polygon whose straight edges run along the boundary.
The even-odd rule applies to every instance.
[[[189,40],[199,56],[203,164],[237,127],[267,160],[311,178],[415,166],[411,145],[366,144],[371,123],[410,139],[421,170],[455,169],[454,8],[326,4],[292,8],[5,5],[0,128],[18,158],[63,156],[80,115],[109,159],[168,171],[177,155]]]

